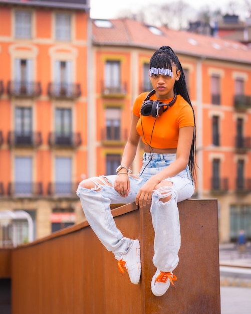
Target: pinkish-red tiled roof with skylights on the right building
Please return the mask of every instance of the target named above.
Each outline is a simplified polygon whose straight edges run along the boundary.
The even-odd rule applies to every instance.
[[[236,41],[165,27],[159,28],[161,35],[155,35],[146,25],[134,20],[109,21],[112,23],[111,28],[100,28],[93,22],[94,45],[134,46],[156,50],[166,45],[179,54],[251,64],[251,48]]]

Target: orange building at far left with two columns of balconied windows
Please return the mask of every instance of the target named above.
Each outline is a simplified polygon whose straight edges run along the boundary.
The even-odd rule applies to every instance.
[[[40,238],[84,218],[89,1],[0,1],[0,21],[0,210]]]

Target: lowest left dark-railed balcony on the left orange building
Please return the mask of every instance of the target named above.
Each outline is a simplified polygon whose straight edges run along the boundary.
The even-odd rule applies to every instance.
[[[9,196],[15,197],[37,197],[43,195],[43,185],[41,182],[10,182],[7,189]]]

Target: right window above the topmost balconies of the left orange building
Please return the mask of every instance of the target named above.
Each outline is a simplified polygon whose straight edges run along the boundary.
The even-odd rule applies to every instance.
[[[54,68],[55,95],[72,94],[72,62],[55,61]]]

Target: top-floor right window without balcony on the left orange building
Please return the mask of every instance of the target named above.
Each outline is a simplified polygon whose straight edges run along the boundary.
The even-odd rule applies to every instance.
[[[56,14],[56,40],[71,40],[71,16],[67,13]]]

